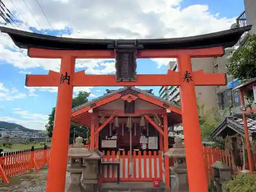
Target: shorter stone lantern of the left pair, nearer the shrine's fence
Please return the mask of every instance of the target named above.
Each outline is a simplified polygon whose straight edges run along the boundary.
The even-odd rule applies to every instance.
[[[91,156],[84,157],[84,170],[82,184],[86,191],[99,191],[100,161],[103,153],[98,149],[90,151]]]

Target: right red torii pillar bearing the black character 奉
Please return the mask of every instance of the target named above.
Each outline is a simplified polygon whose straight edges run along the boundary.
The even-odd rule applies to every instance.
[[[189,191],[206,192],[208,191],[208,177],[205,172],[190,55],[184,54],[178,57],[178,69],[180,72],[180,80],[183,79],[180,83],[180,96]],[[186,77],[187,79],[185,78],[185,74],[189,75]],[[200,181],[200,186],[198,185],[198,181]]]

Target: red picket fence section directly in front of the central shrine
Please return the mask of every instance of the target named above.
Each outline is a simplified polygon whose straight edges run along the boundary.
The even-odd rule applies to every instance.
[[[120,181],[152,181],[154,178],[163,180],[162,175],[162,156],[163,152],[155,151],[153,154],[146,152],[141,154],[133,153],[132,162],[130,162],[130,152],[119,155],[120,161]],[[116,161],[117,154],[115,152],[106,152],[102,161]],[[114,165],[101,165],[101,176],[104,181],[115,181],[117,178],[117,167]],[[132,166],[132,167],[131,167]],[[132,169],[132,170],[130,170]]]

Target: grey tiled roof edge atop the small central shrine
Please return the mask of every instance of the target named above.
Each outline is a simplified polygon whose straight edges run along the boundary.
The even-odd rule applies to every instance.
[[[127,89],[132,89],[132,90],[137,91],[139,93],[148,95],[148,96],[153,97],[155,99],[158,99],[159,101],[163,101],[163,102],[168,103],[168,104],[170,104],[172,106],[175,106],[176,108],[180,108],[180,105],[177,105],[174,102],[166,101],[165,99],[162,99],[162,98],[160,98],[158,96],[155,96],[153,93],[151,93],[151,90],[141,90],[141,89],[135,88],[135,87],[124,87],[124,88],[121,88],[121,89],[118,89],[118,90],[109,90],[108,91],[109,93],[105,93],[104,95],[102,95],[102,96],[100,96],[100,97],[98,97],[96,99],[93,99],[92,101],[89,101],[87,103],[81,104],[81,105],[73,108],[72,112],[77,111],[80,108],[83,108],[84,106],[90,105],[90,104],[92,104],[92,103],[94,103],[96,101],[99,101],[99,100],[101,100],[101,99],[103,99],[105,97],[109,97],[111,95],[117,94],[117,93],[122,92],[122,91],[127,90]]]

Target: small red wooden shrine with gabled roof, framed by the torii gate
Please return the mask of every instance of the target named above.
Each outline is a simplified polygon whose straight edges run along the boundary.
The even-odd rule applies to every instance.
[[[73,122],[91,127],[90,149],[98,148],[112,161],[120,158],[121,181],[164,180],[168,168],[163,172],[161,162],[164,148],[168,149],[168,127],[181,123],[180,106],[154,96],[152,90],[124,87],[106,91],[72,111]],[[104,180],[117,177],[110,175],[106,173]]]

